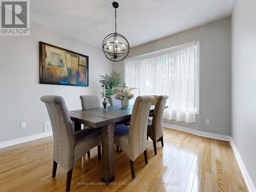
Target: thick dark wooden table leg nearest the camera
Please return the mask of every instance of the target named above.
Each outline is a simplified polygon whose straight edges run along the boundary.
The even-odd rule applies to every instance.
[[[115,124],[102,127],[101,180],[108,184],[115,179],[114,172],[114,130]]]

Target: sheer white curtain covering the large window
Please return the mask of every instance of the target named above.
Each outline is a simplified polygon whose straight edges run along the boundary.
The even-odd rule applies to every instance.
[[[199,112],[199,41],[125,60],[127,86],[140,95],[168,95],[164,118],[196,122]]]

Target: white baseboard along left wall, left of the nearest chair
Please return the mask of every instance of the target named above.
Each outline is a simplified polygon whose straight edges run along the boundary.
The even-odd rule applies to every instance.
[[[39,133],[39,134],[36,134],[36,135],[30,135],[30,136],[26,136],[26,137],[21,137],[21,138],[9,140],[9,141],[0,142],[0,148],[11,146],[11,145],[16,145],[16,144],[24,143],[24,142],[28,142],[28,141],[32,141],[32,140],[35,140],[35,139],[48,137],[48,136],[51,136],[51,135],[52,135],[52,131],[45,132],[45,133]]]

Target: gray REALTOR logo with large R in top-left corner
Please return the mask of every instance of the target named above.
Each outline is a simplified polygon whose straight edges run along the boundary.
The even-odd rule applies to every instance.
[[[0,35],[29,35],[29,0],[1,0]]]

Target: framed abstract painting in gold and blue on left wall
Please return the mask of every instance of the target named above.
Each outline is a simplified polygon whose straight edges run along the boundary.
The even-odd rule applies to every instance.
[[[40,83],[89,86],[89,57],[39,42]]]

